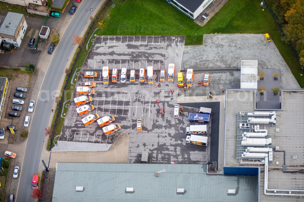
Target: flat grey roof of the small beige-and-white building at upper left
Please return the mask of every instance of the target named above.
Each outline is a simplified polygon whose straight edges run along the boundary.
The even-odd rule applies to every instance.
[[[8,12],[0,27],[0,34],[14,36],[22,17],[23,14]]]

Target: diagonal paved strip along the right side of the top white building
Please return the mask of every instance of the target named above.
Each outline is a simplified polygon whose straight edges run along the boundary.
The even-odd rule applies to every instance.
[[[219,9],[223,7],[223,5],[225,5],[226,2],[228,2],[228,0],[214,0],[197,18],[195,18],[194,22],[201,26],[206,25],[206,23],[219,11]],[[204,22],[202,22],[200,19],[205,13],[209,16]]]

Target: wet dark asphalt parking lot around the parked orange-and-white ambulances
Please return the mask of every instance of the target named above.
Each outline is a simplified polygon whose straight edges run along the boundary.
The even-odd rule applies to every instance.
[[[183,163],[207,163],[209,160],[208,147],[186,145],[185,127],[188,121],[184,120],[186,111],[197,109],[184,109],[181,118],[173,118],[173,107],[177,103],[176,90],[177,72],[180,71],[181,58],[184,48],[183,36],[101,36],[95,39],[94,45],[82,66],[76,86],[82,86],[86,81],[97,83],[92,102],[95,110],[90,113],[98,113],[100,117],[106,115],[115,116],[115,124],[121,125],[121,130],[109,136],[102,134],[97,123],[84,126],[81,119],[86,115],[78,116],[73,94],[66,114],[64,127],[60,135],[62,141],[77,141],[91,143],[113,143],[120,132],[130,133],[129,163],[139,163],[141,151],[150,151],[151,163],[170,163],[177,161]],[[159,70],[168,70],[168,64],[175,64],[174,82],[158,82]],[[101,70],[103,66],[109,66],[110,83],[102,84]],[[154,67],[154,84],[139,83],[138,74],[140,68]],[[127,79],[130,78],[130,70],[136,70],[136,82],[115,84],[111,82],[113,68],[120,70],[127,68]],[[98,72],[95,78],[85,78],[84,71]],[[118,76],[119,79],[119,76]],[[156,102],[156,99],[160,103]],[[164,115],[160,108],[165,108]],[[136,119],[143,120],[143,130],[137,132]]]

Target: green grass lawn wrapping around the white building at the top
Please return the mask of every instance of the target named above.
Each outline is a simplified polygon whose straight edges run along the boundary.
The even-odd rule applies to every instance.
[[[281,40],[281,31],[270,12],[262,11],[260,2],[228,1],[201,27],[164,0],[126,0],[123,3],[116,0],[116,6],[97,35],[185,35],[185,45],[202,45],[204,34],[267,32],[303,88],[299,63],[289,45]]]

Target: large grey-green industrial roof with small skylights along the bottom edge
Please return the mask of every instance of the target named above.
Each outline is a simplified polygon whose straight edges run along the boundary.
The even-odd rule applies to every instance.
[[[52,201],[257,201],[258,176],[206,170],[199,164],[57,163]]]

